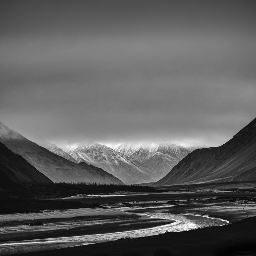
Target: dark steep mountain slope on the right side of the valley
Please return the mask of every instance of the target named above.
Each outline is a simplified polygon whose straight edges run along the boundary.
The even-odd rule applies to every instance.
[[[256,180],[256,118],[220,147],[200,148],[154,185]]]

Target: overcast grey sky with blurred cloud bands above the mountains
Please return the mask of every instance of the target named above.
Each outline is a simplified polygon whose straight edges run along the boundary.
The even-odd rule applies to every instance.
[[[220,146],[255,118],[254,0],[2,0],[0,121],[55,143]]]

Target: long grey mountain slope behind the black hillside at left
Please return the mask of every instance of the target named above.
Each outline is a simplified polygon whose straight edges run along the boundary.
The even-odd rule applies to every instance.
[[[28,163],[54,182],[123,183],[100,168],[85,163],[76,164],[55,155],[2,123],[0,123],[0,142],[15,154],[25,158]]]

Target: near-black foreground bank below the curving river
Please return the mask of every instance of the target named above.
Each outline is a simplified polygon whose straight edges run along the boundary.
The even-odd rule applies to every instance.
[[[100,244],[37,252],[37,256],[69,255],[144,255],[153,256],[159,248],[166,248],[173,256],[255,256],[256,217],[231,225],[167,233]],[[129,254],[130,253],[130,254]],[[133,253],[133,254],[132,254]],[[137,254],[135,254],[137,253]],[[17,254],[32,256],[33,253]]]

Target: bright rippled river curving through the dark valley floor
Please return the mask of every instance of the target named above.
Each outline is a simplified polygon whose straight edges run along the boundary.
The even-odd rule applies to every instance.
[[[173,207],[170,205],[169,207]],[[150,208],[155,208],[150,209]],[[134,212],[138,210],[151,210],[150,212]],[[138,230],[131,230],[131,231],[124,231],[124,232],[115,232],[115,233],[105,233],[105,234],[97,234],[97,235],[86,235],[86,236],[70,236],[70,237],[58,237],[58,238],[48,238],[48,239],[37,239],[37,240],[29,240],[29,241],[21,241],[21,242],[8,242],[2,245],[25,245],[25,244],[44,244],[44,243],[63,243],[63,242],[80,242],[81,245],[85,244],[94,244],[100,243],[105,241],[113,241],[124,237],[136,238],[142,236],[153,236],[163,234],[166,231],[168,232],[181,232],[181,231],[188,231],[195,228],[203,228],[208,226],[221,226],[228,223],[226,220],[222,219],[213,219],[209,218],[208,216],[198,216],[193,214],[173,214],[169,213],[168,206],[155,206],[155,207],[126,207],[122,208],[122,211],[130,212],[132,214],[138,215],[148,215],[151,218],[158,218],[158,219],[169,219],[175,220],[175,222],[170,224],[165,224],[153,228],[145,228],[145,229],[138,229]],[[160,212],[162,211],[162,212]]]

